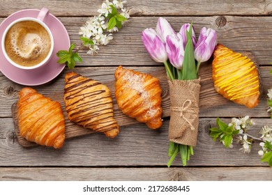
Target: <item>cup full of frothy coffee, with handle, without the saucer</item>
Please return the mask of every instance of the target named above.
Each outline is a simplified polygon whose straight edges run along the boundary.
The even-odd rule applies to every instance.
[[[22,17],[8,25],[3,32],[1,47],[10,64],[32,70],[50,61],[54,39],[44,22],[48,15],[49,10],[43,8],[38,17]]]

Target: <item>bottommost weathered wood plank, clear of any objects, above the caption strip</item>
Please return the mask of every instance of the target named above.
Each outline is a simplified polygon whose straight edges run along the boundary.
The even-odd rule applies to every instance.
[[[65,174],[63,174],[65,173]],[[264,181],[272,180],[266,167],[222,168],[0,168],[2,181]]]

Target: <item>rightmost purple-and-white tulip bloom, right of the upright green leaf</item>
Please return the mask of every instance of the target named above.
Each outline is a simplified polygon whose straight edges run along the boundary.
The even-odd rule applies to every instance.
[[[217,44],[216,31],[203,27],[200,31],[197,45],[195,45],[195,59],[198,63],[208,61]]]

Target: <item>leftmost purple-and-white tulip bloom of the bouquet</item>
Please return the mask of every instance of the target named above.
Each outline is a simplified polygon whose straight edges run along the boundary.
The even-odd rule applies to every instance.
[[[168,57],[165,49],[165,42],[160,40],[156,31],[153,29],[145,29],[142,31],[142,41],[144,42],[146,51],[154,61],[160,63],[167,61]]]

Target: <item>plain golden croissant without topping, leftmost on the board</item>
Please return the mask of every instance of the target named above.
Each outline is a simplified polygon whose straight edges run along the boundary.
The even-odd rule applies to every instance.
[[[43,146],[61,148],[65,139],[65,122],[59,102],[22,88],[17,102],[20,136]]]

